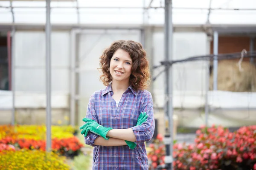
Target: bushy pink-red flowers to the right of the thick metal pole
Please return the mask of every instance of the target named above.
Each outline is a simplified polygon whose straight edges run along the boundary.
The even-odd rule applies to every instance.
[[[256,170],[256,126],[201,127],[195,144],[174,144],[175,170]]]

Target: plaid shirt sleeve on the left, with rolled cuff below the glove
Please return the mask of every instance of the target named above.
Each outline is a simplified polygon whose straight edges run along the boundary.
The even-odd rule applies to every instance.
[[[99,123],[98,117],[95,111],[95,105],[94,105],[94,94],[90,96],[89,103],[87,105],[87,113],[86,113],[86,118],[93,119],[96,122]],[[86,122],[84,122],[86,123]],[[90,146],[95,147],[96,145],[94,144],[95,140],[99,137],[99,135],[96,135],[94,133],[91,133],[90,131],[87,133],[87,136],[84,136],[84,142],[85,144],[88,144]]]

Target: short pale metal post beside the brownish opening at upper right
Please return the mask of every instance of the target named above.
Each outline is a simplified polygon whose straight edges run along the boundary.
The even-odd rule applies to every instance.
[[[213,34],[213,90],[218,89],[218,32],[214,31]]]

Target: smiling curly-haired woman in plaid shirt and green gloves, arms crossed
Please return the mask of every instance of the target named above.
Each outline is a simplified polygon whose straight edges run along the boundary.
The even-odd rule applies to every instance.
[[[90,96],[80,127],[94,147],[93,170],[148,170],[145,142],[155,123],[146,52],[139,42],[119,40],[103,52],[100,67],[107,87]]]

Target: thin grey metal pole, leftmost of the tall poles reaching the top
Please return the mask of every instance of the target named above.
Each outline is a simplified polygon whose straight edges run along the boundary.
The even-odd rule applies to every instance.
[[[12,12],[12,42],[11,42],[11,76],[12,76],[12,125],[15,124],[15,17],[12,7],[12,0],[10,1]]]

